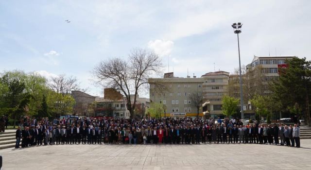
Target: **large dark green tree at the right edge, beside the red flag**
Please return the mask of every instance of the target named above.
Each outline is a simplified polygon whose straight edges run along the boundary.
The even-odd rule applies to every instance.
[[[306,58],[294,57],[291,60],[286,60],[286,63],[288,68],[280,68],[278,81],[273,82],[271,85],[274,99],[280,101],[283,109],[298,103],[304,113],[304,119],[311,126],[309,101],[311,94],[311,61],[306,61]]]

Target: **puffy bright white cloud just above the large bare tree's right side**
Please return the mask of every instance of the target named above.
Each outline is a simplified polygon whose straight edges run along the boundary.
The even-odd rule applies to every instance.
[[[160,56],[170,55],[174,46],[173,41],[156,39],[148,42],[148,47]]]

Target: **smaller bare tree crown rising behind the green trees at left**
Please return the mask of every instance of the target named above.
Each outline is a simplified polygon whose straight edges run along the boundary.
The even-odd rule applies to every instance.
[[[49,86],[56,93],[63,95],[70,94],[72,90],[85,91],[84,89],[80,88],[80,84],[75,77],[66,77],[65,74],[51,78]]]

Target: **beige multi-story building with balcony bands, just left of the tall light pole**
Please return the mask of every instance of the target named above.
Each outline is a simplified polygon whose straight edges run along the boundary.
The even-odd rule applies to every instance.
[[[212,118],[224,117],[223,96],[228,94],[229,73],[225,71],[209,72],[201,76],[203,79],[204,112]]]

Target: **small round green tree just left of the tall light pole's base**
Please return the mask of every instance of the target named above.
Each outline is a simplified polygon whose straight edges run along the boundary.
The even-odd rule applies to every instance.
[[[224,96],[222,110],[225,116],[230,117],[231,115],[235,114],[238,104],[239,104],[238,99],[235,99],[230,96]]]

